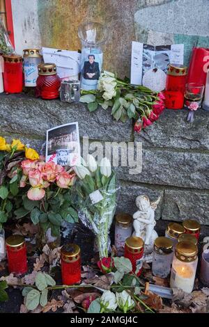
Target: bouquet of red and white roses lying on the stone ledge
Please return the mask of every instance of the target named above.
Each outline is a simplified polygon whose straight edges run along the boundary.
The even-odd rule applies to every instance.
[[[114,119],[125,122],[134,119],[134,131],[138,133],[155,122],[165,109],[163,93],[155,93],[144,86],[133,86],[128,79],[116,79],[104,71],[98,82],[98,90],[82,90],[80,102],[88,104],[89,111],[98,106],[111,107]]]

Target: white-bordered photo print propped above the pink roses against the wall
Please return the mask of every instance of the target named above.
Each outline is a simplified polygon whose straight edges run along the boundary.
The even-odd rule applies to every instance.
[[[79,166],[81,148],[78,122],[47,130],[46,162],[61,166]]]

